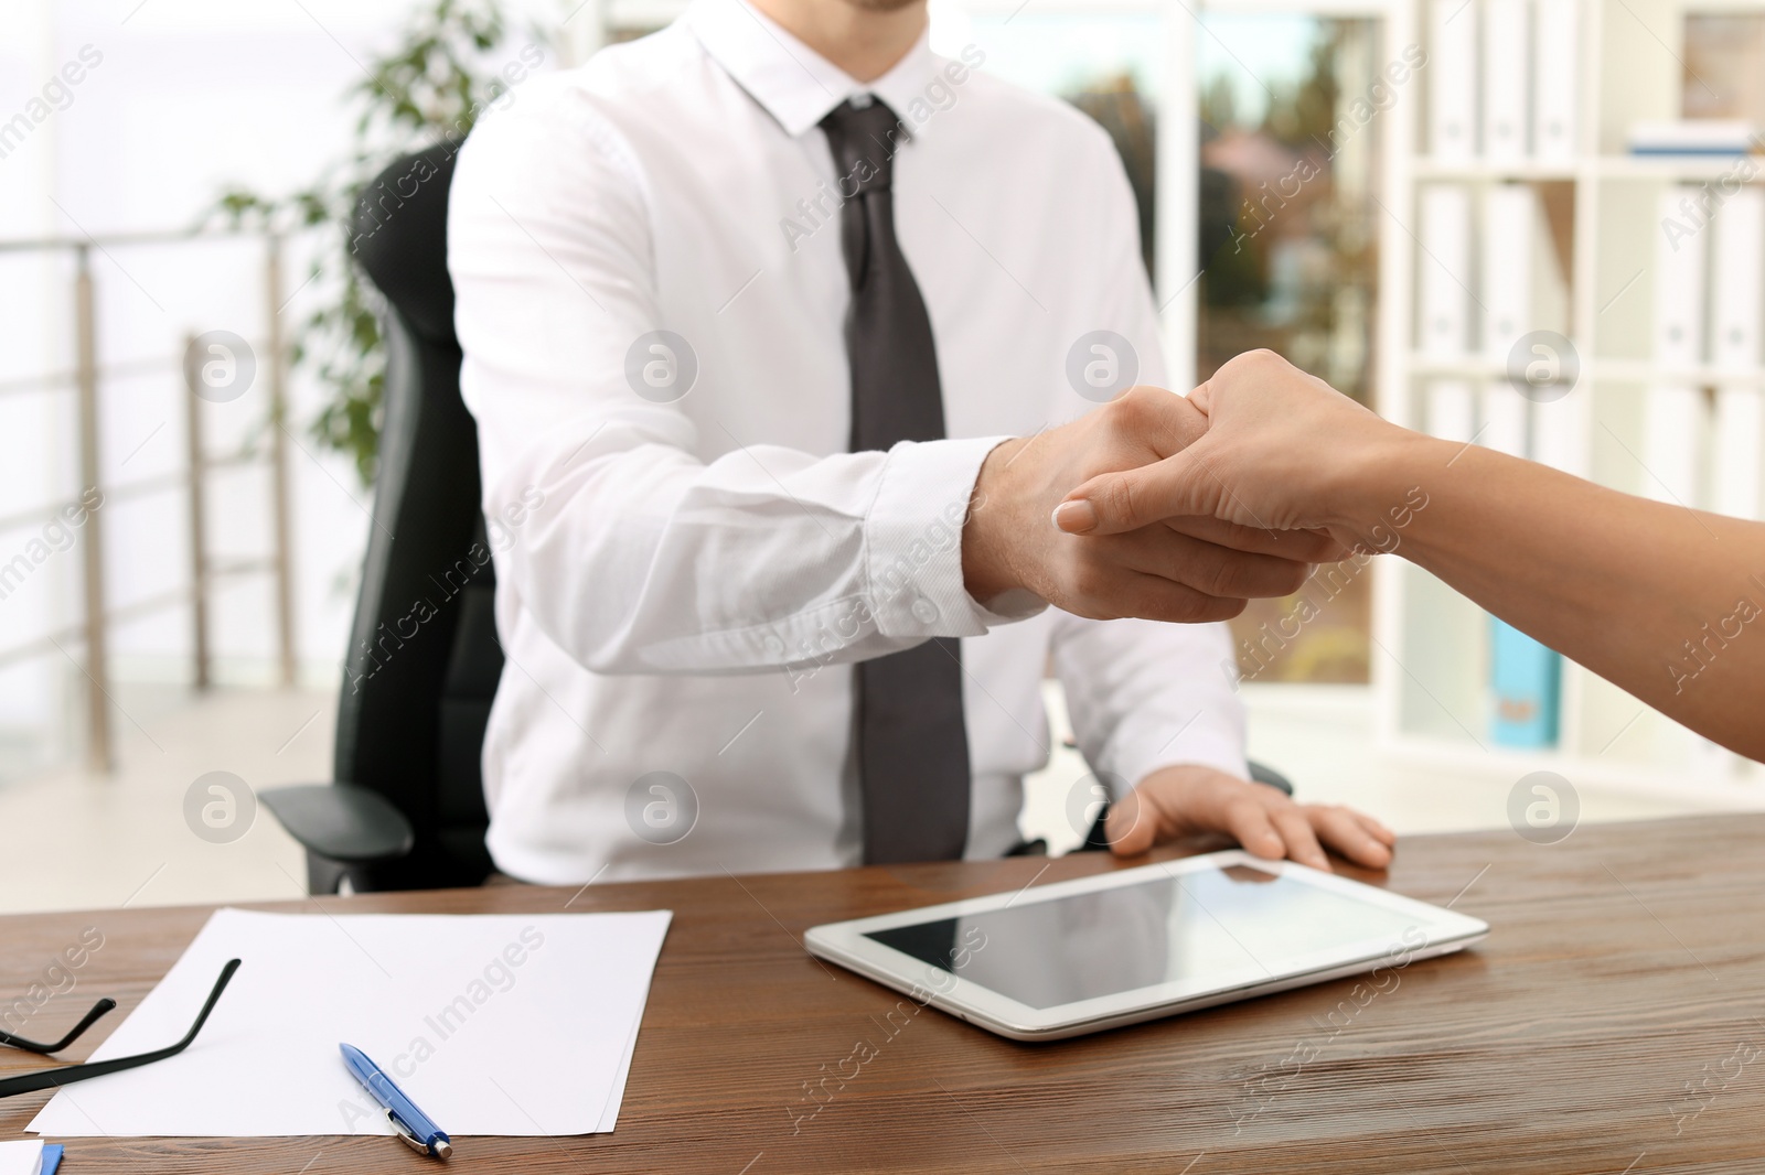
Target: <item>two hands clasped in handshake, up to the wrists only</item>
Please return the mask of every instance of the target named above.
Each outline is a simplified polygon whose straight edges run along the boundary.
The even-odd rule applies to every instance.
[[[1315,563],[1391,547],[1403,490],[1393,499],[1382,475],[1403,436],[1271,351],[1188,397],[1131,388],[988,453],[962,531],[969,595],[1228,619],[1251,596],[1292,595]]]

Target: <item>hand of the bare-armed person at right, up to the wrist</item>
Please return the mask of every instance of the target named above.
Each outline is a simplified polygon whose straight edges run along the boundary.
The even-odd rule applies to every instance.
[[[1403,436],[1322,379],[1273,351],[1225,363],[1188,402],[1207,420],[1161,460],[1108,471],[1073,489],[1054,515],[1070,535],[1121,535],[1190,515],[1264,531],[1329,531],[1343,545],[1377,547],[1366,535],[1368,475]],[[1167,438],[1153,438],[1165,445]],[[1377,510],[1371,517],[1377,517]]]

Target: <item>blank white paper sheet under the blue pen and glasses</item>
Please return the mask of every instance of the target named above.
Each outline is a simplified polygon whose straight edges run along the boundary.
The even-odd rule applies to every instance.
[[[94,1060],[182,1037],[244,960],[196,1043],[58,1092],[28,1129],[387,1134],[348,1041],[448,1134],[611,1131],[669,917],[217,910]]]

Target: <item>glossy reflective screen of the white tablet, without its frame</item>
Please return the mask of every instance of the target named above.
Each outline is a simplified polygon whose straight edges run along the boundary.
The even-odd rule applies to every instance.
[[[1410,914],[1232,864],[867,937],[1020,1004],[1057,1007],[1244,969],[1276,976],[1345,944],[1401,949],[1414,926]]]

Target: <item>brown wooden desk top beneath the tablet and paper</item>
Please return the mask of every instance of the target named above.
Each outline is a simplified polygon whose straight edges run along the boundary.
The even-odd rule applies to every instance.
[[[898,997],[824,969],[798,939],[822,921],[1112,868],[1107,857],[591,886],[572,910],[674,910],[614,1134],[468,1138],[447,1168],[390,1138],[90,1138],[71,1140],[64,1170],[1761,1171],[1761,843],[1760,815],[1588,826],[1551,847],[1506,829],[1410,838],[1389,886],[1458,896],[1454,909],[1493,926],[1483,947],[1414,963],[1384,993],[1363,988],[1361,1006],[1356,981],[1338,981],[1055,1044],[930,1009],[891,1032]],[[325,909],[558,910],[570,896],[507,887]],[[0,919],[0,995],[97,926],[104,946],[79,986],[32,1029],[60,1030],[102,993],[122,1002],[120,1023],[207,916]],[[69,1059],[104,1027],[90,1036]],[[808,1083],[840,1074],[860,1041],[875,1057],[812,1097]],[[39,1064],[0,1050],[0,1074]],[[0,1138],[46,1097],[0,1103]]]

